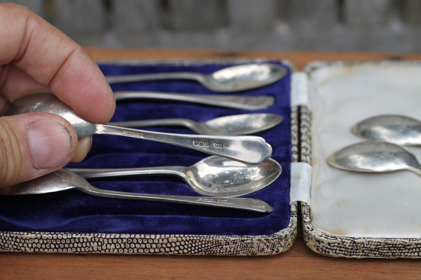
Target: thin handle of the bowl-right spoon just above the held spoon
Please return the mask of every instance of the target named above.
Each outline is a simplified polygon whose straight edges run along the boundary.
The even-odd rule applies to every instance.
[[[108,125],[116,127],[153,127],[153,126],[181,126],[187,127],[194,132],[195,124],[189,119],[149,119],[143,121],[109,122]]]

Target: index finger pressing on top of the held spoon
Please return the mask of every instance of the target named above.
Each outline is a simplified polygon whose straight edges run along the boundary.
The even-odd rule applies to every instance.
[[[115,98],[98,65],[47,21],[24,6],[0,3],[0,42],[0,65],[13,63],[88,121],[111,119]],[[9,101],[20,97],[2,93]]]

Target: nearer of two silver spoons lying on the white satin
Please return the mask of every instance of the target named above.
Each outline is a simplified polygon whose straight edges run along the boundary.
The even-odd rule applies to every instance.
[[[331,166],[362,172],[390,172],[407,169],[421,175],[421,165],[413,153],[389,142],[367,141],[349,145],[327,160]]]

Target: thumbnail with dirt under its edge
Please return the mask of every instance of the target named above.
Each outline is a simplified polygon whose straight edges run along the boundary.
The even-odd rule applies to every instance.
[[[61,124],[36,121],[28,128],[29,149],[35,168],[50,168],[61,164],[72,151],[72,137]]]

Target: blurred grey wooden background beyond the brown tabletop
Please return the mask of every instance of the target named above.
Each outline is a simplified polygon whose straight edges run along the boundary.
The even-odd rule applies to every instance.
[[[15,0],[83,46],[419,53],[421,0]]]

